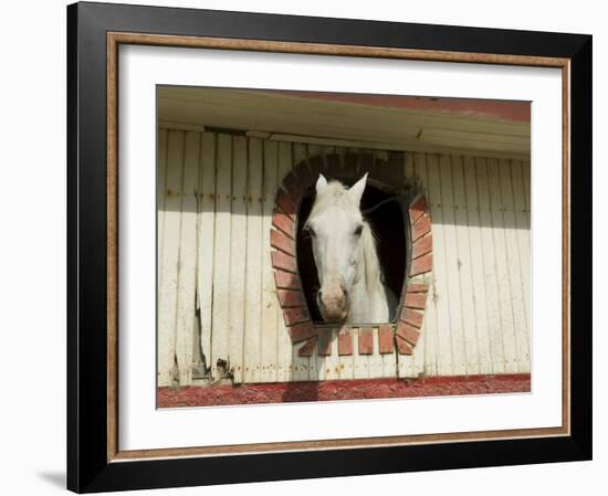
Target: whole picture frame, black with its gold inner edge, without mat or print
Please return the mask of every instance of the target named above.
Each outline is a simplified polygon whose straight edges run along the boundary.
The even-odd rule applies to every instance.
[[[562,425],[120,451],[117,59],[132,44],[559,68]],[[67,8],[67,63],[69,489],[591,458],[591,36],[81,2]]]

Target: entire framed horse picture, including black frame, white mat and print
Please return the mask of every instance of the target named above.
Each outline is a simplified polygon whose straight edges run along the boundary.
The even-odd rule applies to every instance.
[[[590,458],[590,36],[67,21],[70,489]]]

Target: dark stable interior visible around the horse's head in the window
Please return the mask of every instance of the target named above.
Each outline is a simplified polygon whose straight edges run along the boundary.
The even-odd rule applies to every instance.
[[[375,188],[374,186],[367,184],[361,198],[361,211],[378,204],[391,196],[392,194]],[[300,271],[300,278],[302,281],[304,295],[306,296],[308,310],[315,323],[323,323],[316,304],[316,293],[319,283],[313,257],[313,246],[310,235],[302,229],[308,219],[314,199],[315,191],[314,187],[312,187],[304,193],[300,205],[296,254],[297,268]],[[380,265],[385,274],[385,283],[399,299],[401,288],[403,287],[407,263],[406,231],[401,207],[398,201],[390,201],[368,215],[365,215],[365,218],[376,234],[376,246],[378,250],[378,257],[380,258]]]

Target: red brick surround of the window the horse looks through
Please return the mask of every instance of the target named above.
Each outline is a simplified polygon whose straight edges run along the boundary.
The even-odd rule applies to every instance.
[[[371,154],[346,152],[315,156],[302,160],[281,182],[275,197],[275,209],[270,233],[272,266],[279,304],[293,345],[301,346],[300,356],[311,356],[316,346],[319,356],[331,355],[331,333],[319,328],[311,318],[302,287],[297,260],[297,215],[304,193],[314,186],[318,173],[328,179],[349,180],[369,172],[368,181],[380,189],[402,197],[403,221],[409,261],[397,308],[395,323],[378,326],[378,350],[411,355],[420,337],[429,284],[424,274],[432,270],[431,217],[423,193],[407,184],[402,155],[382,160]],[[359,355],[371,355],[373,330],[364,326],[344,326],[337,339],[338,353],[353,353],[353,333],[359,333]]]

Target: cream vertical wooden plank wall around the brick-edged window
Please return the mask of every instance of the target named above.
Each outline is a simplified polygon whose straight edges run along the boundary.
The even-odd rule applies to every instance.
[[[271,264],[274,198],[302,160],[346,151],[361,150],[159,129],[159,386],[199,383],[199,356],[208,379],[234,382],[530,371],[530,162],[458,155],[406,152],[400,166],[427,197],[433,235],[412,355],[379,353],[377,326],[364,338],[346,329],[352,355],[338,353],[339,329],[327,355],[298,355]]]

